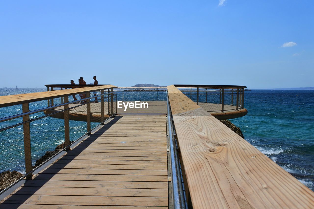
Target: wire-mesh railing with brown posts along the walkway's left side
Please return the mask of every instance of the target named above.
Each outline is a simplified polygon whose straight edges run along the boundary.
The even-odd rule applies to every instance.
[[[104,92],[107,90],[109,92]],[[115,115],[116,92],[113,88],[101,89],[100,94],[90,96],[94,91],[84,92],[84,99],[74,100],[71,95],[55,98],[58,104],[48,107],[41,102],[46,99],[21,102],[22,113],[0,118],[0,173],[17,170],[23,174],[22,178],[30,179],[34,170],[43,164],[36,161],[46,151],[55,150],[60,143],[64,144],[62,150],[68,151],[74,143],[71,141],[78,140],[82,135],[90,135],[95,127]],[[99,104],[94,103],[97,97],[100,98],[97,99]],[[35,110],[30,110],[30,107],[35,107]],[[7,105],[2,107],[2,112],[18,108],[19,105]],[[78,115],[82,120],[75,120]],[[45,162],[47,160],[44,159]]]

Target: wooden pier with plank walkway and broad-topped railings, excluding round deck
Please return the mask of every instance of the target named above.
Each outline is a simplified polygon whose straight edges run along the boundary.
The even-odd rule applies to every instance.
[[[0,107],[23,105],[27,165],[25,183],[7,190],[0,208],[163,209],[173,206],[177,209],[185,208],[183,205],[194,209],[314,208],[313,191],[175,85],[167,87],[167,118],[163,113],[114,115],[113,88],[116,87],[106,85],[0,98]],[[240,110],[240,87],[235,88],[236,111],[245,115],[243,94]],[[106,89],[111,98],[112,118],[91,130],[88,96],[94,90],[104,93]],[[241,89],[244,92],[244,87]],[[80,93],[86,93],[89,98],[86,99],[86,133],[89,136],[77,141],[55,161],[43,164],[44,169],[32,176],[28,103],[58,97],[68,101],[69,95]],[[101,96],[102,103],[104,95]],[[65,103],[63,109],[66,146],[70,144],[68,105]],[[224,110],[224,102],[220,105]],[[47,107],[45,110],[51,109]],[[104,108],[100,113],[101,121],[104,121]],[[221,114],[232,118],[228,111]],[[177,166],[178,162],[180,166]],[[173,173],[176,175],[172,176]],[[173,186],[174,182],[177,187]],[[184,195],[176,196],[175,191]],[[176,204],[177,199],[183,204]]]

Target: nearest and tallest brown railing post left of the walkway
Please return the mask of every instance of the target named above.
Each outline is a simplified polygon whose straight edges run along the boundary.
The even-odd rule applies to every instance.
[[[29,104],[24,103],[22,105],[23,113],[29,112]],[[23,122],[29,121],[30,115],[23,116]],[[26,174],[29,173],[26,176],[26,179],[32,178],[32,153],[30,148],[30,123],[23,124],[23,135],[24,135],[24,156],[25,156],[25,172]]]

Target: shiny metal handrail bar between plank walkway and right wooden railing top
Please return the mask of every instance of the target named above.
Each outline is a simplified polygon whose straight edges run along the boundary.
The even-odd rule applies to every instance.
[[[185,208],[185,200],[183,195],[183,188],[182,188],[182,180],[181,180],[181,172],[180,166],[178,162],[177,150],[176,146],[174,145],[174,137],[172,133],[172,120],[171,120],[171,113],[170,113],[170,104],[168,99],[168,91],[167,94],[167,120],[168,120],[168,131],[169,131],[169,152],[170,152],[170,159],[171,159],[171,185],[172,185],[172,208],[173,209],[181,209]]]

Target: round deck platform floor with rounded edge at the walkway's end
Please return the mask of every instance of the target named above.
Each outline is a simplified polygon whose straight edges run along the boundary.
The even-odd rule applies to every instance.
[[[125,101],[127,102],[127,101]],[[166,114],[167,113],[167,102],[166,101],[141,101],[148,102],[148,108],[129,108],[126,110],[122,105],[122,108],[117,109],[117,114]],[[75,107],[80,104],[72,104],[69,107]],[[221,104],[214,103],[198,103],[200,107],[209,112],[218,120],[226,120],[232,118],[238,118],[247,114],[246,109],[236,110],[236,106],[233,105],[224,105],[224,112],[221,112]],[[101,122],[100,121],[100,112],[101,112],[100,103],[91,103],[90,111],[91,111],[91,122]],[[63,107],[58,107],[53,110],[45,111],[45,114],[51,114],[63,110]],[[116,110],[116,102],[114,102],[114,110]],[[105,102],[105,119],[109,117],[108,115],[108,103]],[[51,117],[64,119],[63,113],[57,113],[51,115]],[[69,119],[74,121],[86,121],[86,105],[78,106],[69,110]]]

